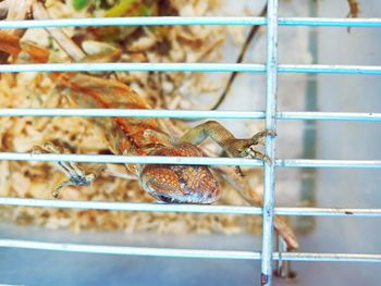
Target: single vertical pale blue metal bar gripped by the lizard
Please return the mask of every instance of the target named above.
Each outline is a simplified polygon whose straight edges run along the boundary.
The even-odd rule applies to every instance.
[[[276,86],[278,86],[278,0],[268,0],[267,15],[267,95],[266,129],[275,132]],[[274,219],[274,171],[275,137],[266,138],[266,153],[271,159],[265,162],[263,189],[263,235],[261,285],[272,284],[273,219]]]

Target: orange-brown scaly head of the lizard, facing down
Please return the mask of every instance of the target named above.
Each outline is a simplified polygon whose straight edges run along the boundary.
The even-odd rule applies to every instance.
[[[161,147],[150,156],[202,157],[190,144]],[[208,166],[144,164],[139,170],[143,188],[159,201],[169,203],[212,203],[221,188]]]

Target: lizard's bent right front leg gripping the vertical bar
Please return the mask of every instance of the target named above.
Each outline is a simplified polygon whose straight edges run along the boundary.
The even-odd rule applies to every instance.
[[[186,132],[180,138],[180,141],[199,145],[205,139],[211,138],[226,151],[229,157],[249,157],[269,161],[270,159],[266,154],[254,148],[257,145],[262,145],[262,139],[268,135],[274,136],[272,132],[262,130],[255,134],[251,138],[237,139],[220,123],[208,121]]]

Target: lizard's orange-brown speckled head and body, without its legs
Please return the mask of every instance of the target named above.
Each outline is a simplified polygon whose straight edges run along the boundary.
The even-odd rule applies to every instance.
[[[56,74],[60,87],[81,108],[145,109],[148,103],[126,85],[84,74]],[[94,119],[105,132],[110,149],[119,154],[202,157],[194,145],[172,144],[159,128],[157,119]],[[212,203],[220,198],[220,186],[208,166],[130,164],[142,187],[153,198],[172,203]]]

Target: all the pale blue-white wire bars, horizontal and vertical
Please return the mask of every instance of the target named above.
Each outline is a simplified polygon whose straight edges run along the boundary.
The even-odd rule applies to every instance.
[[[343,112],[276,112],[278,73],[332,73],[380,75],[380,66],[365,65],[296,65],[278,64],[278,26],[344,26],[380,27],[381,18],[308,18],[278,17],[278,0],[268,1],[267,17],[119,17],[119,18],[70,18],[38,21],[2,21],[0,28],[41,28],[66,26],[128,26],[128,25],[266,25],[268,33],[268,58],[266,64],[228,63],[73,63],[73,64],[13,64],[0,65],[0,72],[103,72],[103,71],[182,71],[182,72],[250,72],[267,74],[266,111],[169,111],[169,110],[88,110],[88,109],[1,109],[0,116],[138,116],[138,117],[185,117],[185,119],[266,119],[266,127],[275,130],[278,120],[330,120],[379,122],[381,113]],[[274,138],[268,136],[267,154],[275,158]],[[122,203],[98,201],[64,201],[22,198],[0,198],[0,204],[101,209],[123,211],[196,212],[263,215],[262,249],[260,252],[222,251],[197,249],[162,249],[111,247],[98,245],[50,244],[15,239],[0,239],[0,247],[45,249],[59,251],[79,251],[91,253],[159,256],[182,258],[249,259],[262,261],[261,283],[271,285],[272,261],[354,261],[381,262],[381,254],[364,253],[303,253],[273,252],[273,216],[316,215],[316,216],[365,216],[380,217],[380,209],[333,209],[333,208],[274,208],[275,167],[361,167],[381,169],[381,160],[274,160],[274,164],[249,159],[225,158],[170,158],[170,157],[126,157],[126,156],[85,156],[85,154],[30,154],[1,152],[0,160],[24,161],[75,161],[108,163],[179,163],[205,165],[244,165],[265,167],[263,208],[234,206],[175,206],[157,203]]]

